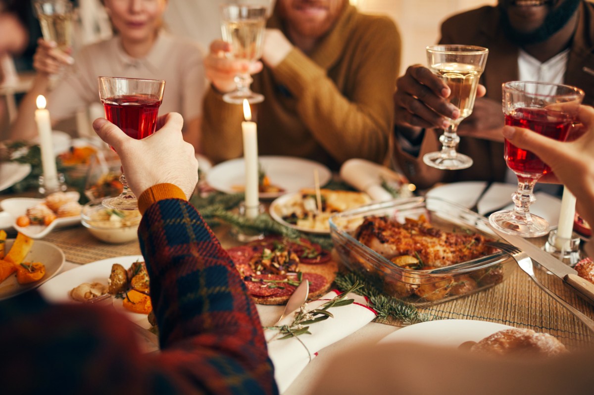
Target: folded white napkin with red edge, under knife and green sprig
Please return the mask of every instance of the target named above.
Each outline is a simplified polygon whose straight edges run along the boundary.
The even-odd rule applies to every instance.
[[[339,291],[330,291],[319,300],[309,302],[307,310],[315,310],[339,294]],[[311,335],[299,335],[298,338],[301,342],[295,337],[279,340],[275,338],[277,330],[264,330],[264,336],[268,342],[268,355],[274,364],[274,379],[279,386],[280,393],[283,393],[307,366],[310,360],[309,355],[314,358],[318,351],[324,347],[361,329],[375,318],[377,313],[368,307],[364,297],[348,294],[347,299],[354,299],[355,302],[328,309],[334,317],[310,324]],[[286,317],[280,325],[292,323],[293,318],[293,315]],[[282,335],[277,337],[282,337]]]

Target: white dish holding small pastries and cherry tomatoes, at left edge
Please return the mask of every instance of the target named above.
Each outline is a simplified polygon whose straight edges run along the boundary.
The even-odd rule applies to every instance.
[[[80,198],[80,193],[78,192],[67,192],[71,193],[73,198],[78,201]],[[43,199],[34,199],[34,198],[10,198],[4,199],[0,202],[0,208],[4,210],[4,212],[8,213],[12,219],[12,227],[15,228],[17,231],[21,232],[32,238],[43,238],[49,232],[53,230],[53,228],[61,228],[67,227],[70,225],[80,224],[80,215],[76,216],[65,216],[63,218],[56,218],[53,220],[51,224],[48,226],[45,225],[29,225],[28,227],[20,227],[17,225],[17,218],[21,215],[25,215],[27,209],[33,207],[39,203],[42,203]]]

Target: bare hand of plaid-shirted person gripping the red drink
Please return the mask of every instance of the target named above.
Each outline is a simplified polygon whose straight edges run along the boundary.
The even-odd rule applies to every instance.
[[[198,161],[194,147],[182,137],[183,125],[180,114],[169,113],[157,119],[156,132],[137,140],[105,118],[93,122],[97,135],[118,152],[134,195],[140,196],[153,185],[170,183],[189,199],[198,182]]]

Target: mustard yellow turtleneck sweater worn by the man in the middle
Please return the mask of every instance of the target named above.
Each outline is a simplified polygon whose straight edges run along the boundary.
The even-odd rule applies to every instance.
[[[278,15],[268,27],[283,30]],[[283,31],[286,35],[286,31]],[[389,18],[346,5],[333,29],[305,55],[293,49],[273,70],[254,75],[263,103],[257,116],[260,155],[310,158],[338,168],[349,158],[382,161],[393,122],[400,35]],[[202,146],[215,163],[243,154],[242,106],[210,89]]]

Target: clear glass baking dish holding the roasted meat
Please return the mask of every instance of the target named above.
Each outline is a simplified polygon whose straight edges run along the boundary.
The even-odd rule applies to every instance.
[[[387,216],[402,224],[405,218],[419,219],[421,215],[443,231],[476,232],[488,240],[497,240],[487,218],[438,198],[391,200],[333,215],[330,235],[340,259],[350,270],[363,275],[385,294],[419,307],[482,291],[504,281],[511,273],[513,260],[500,250],[454,265],[408,269],[397,266],[355,238],[356,228],[368,216]]]

